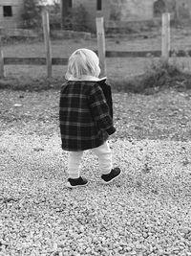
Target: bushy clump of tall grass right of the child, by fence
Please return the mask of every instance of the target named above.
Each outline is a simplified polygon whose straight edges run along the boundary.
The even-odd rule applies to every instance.
[[[191,89],[191,74],[181,71],[175,62],[151,58],[150,66],[144,74],[120,81],[113,80],[111,83],[117,92],[153,94],[168,87],[178,90]]]

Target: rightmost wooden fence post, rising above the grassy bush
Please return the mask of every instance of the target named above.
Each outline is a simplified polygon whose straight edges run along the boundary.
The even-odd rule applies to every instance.
[[[161,57],[168,61],[170,52],[170,13],[162,13]]]

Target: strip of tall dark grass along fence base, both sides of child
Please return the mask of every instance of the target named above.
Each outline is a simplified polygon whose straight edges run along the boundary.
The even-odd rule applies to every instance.
[[[147,70],[141,75],[112,78],[109,81],[113,91],[116,92],[154,94],[169,87],[178,90],[191,89],[191,74],[183,72],[176,62],[168,63],[162,59],[152,59]],[[0,89],[42,91],[59,89],[63,82],[63,77],[53,79],[26,78],[22,76],[18,78],[8,77],[0,80]]]

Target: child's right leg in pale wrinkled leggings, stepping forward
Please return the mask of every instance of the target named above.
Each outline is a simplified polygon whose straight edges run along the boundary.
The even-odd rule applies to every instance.
[[[99,159],[99,169],[102,175],[107,175],[111,172],[113,168],[112,163],[112,151],[109,147],[108,142],[105,142],[103,145],[92,149],[94,153],[98,156]]]

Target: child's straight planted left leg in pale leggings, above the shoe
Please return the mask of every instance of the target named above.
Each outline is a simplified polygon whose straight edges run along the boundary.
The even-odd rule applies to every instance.
[[[71,151],[69,154],[68,174],[70,178],[78,178],[80,176],[80,161],[83,151]]]

